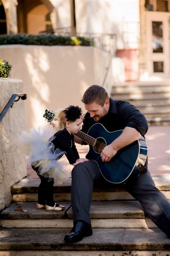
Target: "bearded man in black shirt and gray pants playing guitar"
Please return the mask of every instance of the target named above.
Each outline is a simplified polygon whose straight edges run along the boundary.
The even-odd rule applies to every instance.
[[[108,162],[119,149],[144,136],[148,130],[145,116],[129,102],[114,101],[107,91],[99,85],[89,87],[82,102],[88,111],[84,118],[82,131],[87,133],[96,122],[109,131],[123,129],[122,134],[101,152],[101,160]],[[75,136],[76,137],[76,136]],[[85,144],[76,137],[75,142]],[[147,170],[147,160],[145,163]],[[65,236],[66,242],[78,242],[83,237],[92,235],[90,204],[94,180],[101,179],[98,164],[94,160],[80,163],[72,170],[71,202],[74,226],[71,233]],[[151,220],[170,238],[170,203],[155,187],[154,181],[147,172],[140,174],[133,181],[126,182],[127,191],[145,209]]]

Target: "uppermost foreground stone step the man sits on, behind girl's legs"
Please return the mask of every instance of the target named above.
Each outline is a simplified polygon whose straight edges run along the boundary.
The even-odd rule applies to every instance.
[[[153,179],[156,187],[162,191],[168,200],[170,200],[170,176],[153,176]],[[11,187],[13,200],[15,202],[37,201],[39,183],[39,178],[23,178]],[[70,192],[71,178],[62,185],[54,187],[54,200],[70,201]],[[113,185],[109,182],[98,184],[98,182],[95,182],[92,200],[134,200],[134,198],[126,191],[124,184]]]

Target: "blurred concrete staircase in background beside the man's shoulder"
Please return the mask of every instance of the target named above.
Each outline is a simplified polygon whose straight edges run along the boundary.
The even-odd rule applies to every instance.
[[[115,85],[111,97],[136,106],[146,116],[149,124],[170,124],[170,79]]]

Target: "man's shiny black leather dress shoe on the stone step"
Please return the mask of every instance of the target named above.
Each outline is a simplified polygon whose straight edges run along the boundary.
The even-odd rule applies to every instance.
[[[81,241],[84,237],[90,237],[93,234],[91,225],[85,221],[78,220],[74,223],[74,226],[69,235],[66,235],[65,242],[75,243]]]

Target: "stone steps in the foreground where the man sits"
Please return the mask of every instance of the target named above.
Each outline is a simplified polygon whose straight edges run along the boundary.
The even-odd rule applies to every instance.
[[[169,176],[153,177],[170,200]],[[91,203],[93,236],[68,244],[63,241],[72,228],[72,210],[37,210],[39,179],[24,178],[11,188],[14,202],[0,215],[0,256],[169,256],[170,239],[146,216],[140,203],[124,185],[95,184]],[[55,187],[55,200],[70,205],[71,178]]]

